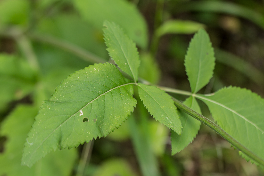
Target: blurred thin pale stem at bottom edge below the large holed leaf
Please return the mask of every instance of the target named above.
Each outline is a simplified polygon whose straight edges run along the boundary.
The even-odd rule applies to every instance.
[[[86,163],[89,163],[91,159],[92,148],[93,148],[93,140],[88,143],[86,142],[84,143],[81,159],[79,161],[79,165],[77,169],[77,174],[76,174],[77,176],[83,176]]]

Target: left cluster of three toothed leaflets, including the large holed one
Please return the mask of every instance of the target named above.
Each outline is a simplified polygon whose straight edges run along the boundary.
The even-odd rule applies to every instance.
[[[27,137],[22,164],[31,167],[52,149],[77,147],[107,136],[133,112],[137,101],[133,85],[153,117],[181,134],[181,122],[171,97],[154,86],[137,83],[140,64],[135,44],[114,23],[105,22],[105,40],[112,64],[95,64],[76,71],[61,82],[43,103]]]

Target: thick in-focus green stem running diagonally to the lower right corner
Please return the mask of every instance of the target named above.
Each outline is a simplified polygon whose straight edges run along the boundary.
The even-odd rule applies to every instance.
[[[191,108],[185,106],[183,103],[181,103],[179,100],[173,98],[173,101],[176,105],[176,107],[183,112],[187,113],[188,115],[191,115],[195,119],[199,120],[200,122],[204,123],[206,126],[213,129],[216,133],[218,133],[221,137],[223,137],[226,141],[228,141],[230,144],[232,144],[236,149],[242,151],[245,155],[247,155],[249,158],[253,159],[257,163],[264,166],[264,160],[258,157],[256,154],[248,150],[245,146],[243,146],[241,143],[239,143],[237,140],[235,140],[232,136],[230,136],[227,132],[225,132],[222,128],[220,128],[218,125],[216,125],[214,122],[210,121],[208,118],[204,117],[203,115],[197,113],[196,111],[192,110]]]

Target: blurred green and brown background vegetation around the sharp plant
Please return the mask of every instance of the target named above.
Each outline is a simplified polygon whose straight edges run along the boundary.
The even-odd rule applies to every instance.
[[[184,57],[193,34],[204,27],[216,66],[200,93],[233,85],[264,97],[263,0],[0,0],[0,176],[264,175],[204,125],[171,156],[169,129],[143,104],[106,138],[50,153],[31,169],[21,166],[23,143],[42,101],[70,73],[112,62],[104,20],[135,41],[141,78],[187,91]]]

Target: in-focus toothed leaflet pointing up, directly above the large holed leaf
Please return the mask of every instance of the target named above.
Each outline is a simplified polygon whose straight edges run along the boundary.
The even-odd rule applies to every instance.
[[[125,35],[124,31],[114,22],[105,21],[105,43],[110,57],[122,71],[138,81],[138,67],[140,65],[136,44]]]

